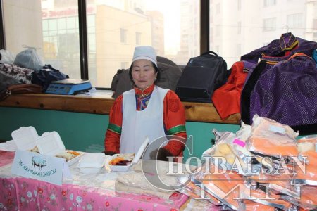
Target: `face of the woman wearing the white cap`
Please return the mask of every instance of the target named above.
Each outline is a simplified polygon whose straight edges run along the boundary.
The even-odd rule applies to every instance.
[[[151,61],[140,59],[133,62],[131,75],[135,86],[143,90],[154,84],[157,72]]]

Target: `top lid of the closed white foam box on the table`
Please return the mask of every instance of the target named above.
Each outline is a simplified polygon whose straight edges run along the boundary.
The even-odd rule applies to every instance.
[[[79,168],[100,168],[106,162],[106,155],[104,153],[85,153],[78,161]]]

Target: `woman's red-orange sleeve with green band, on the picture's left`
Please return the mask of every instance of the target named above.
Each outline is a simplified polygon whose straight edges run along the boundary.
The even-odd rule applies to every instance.
[[[113,153],[120,152],[120,138],[122,129],[122,103],[123,96],[120,95],[114,101],[110,110],[109,124],[104,139],[104,150]]]

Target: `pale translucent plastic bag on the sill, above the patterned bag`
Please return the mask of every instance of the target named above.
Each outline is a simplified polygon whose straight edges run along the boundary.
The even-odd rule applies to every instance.
[[[27,47],[27,49],[18,53],[15,57],[14,64],[32,70],[41,70],[44,66],[42,58],[37,53],[37,50],[32,47]]]

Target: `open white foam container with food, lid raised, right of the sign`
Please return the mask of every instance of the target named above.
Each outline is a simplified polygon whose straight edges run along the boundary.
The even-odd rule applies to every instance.
[[[64,158],[68,165],[73,165],[84,154],[78,151],[66,150],[61,136],[58,132],[44,132],[42,136],[37,138],[37,148],[39,153],[43,155],[56,156]]]

